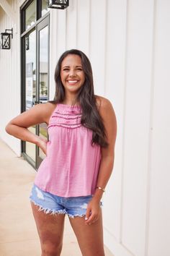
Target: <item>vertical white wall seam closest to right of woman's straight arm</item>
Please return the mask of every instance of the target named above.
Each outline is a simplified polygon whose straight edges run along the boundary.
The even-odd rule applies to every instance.
[[[124,184],[124,164],[125,164],[125,115],[126,115],[126,77],[127,77],[127,59],[128,59],[128,0],[126,1],[125,17],[125,66],[124,66],[124,106],[122,114],[122,170],[121,170],[121,189],[120,189],[120,237],[119,242],[122,244],[122,208],[123,208],[123,184]]]

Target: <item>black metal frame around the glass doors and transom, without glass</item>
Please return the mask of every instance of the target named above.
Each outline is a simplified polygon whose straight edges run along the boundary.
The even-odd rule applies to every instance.
[[[50,40],[50,13],[48,12],[43,17],[40,17],[40,8],[41,4],[40,1],[36,1],[36,20],[34,25],[32,25],[29,29],[26,31],[24,30],[25,27],[25,9],[32,3],[32,0],[25,1],[20,9],[20,24],[21,24],[21,112],[25,111],[25,38],[27,35],[29,35],[32,31],[36,30],[36,102],[39,103],[39,71],[40,71],[40,37],[39,37],[39,31],[42,30],[43,27],[48,26],[48,53],[49,53],[49,40]],[[48,87],[49,87],[49,54],[48,54]],[[49,88],[48,88],[49,90]],[[36,134],[39,134],[39,126],[36,126]],[[32,158],[30,158],[29,155],[26,154],[26,148],[25,148],[25,142],[21,142],[21,148],[22,148],[22,155],[23,157],[34,167],[38,168],[40,165],[42,159],[38,156],[39,148],[36,145],[36,161],[33,161]]]

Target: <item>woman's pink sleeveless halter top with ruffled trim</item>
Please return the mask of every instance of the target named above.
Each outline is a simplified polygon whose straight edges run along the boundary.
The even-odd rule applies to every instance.
[[[47,156],[35,184],[60,197],[93,195],[101,161],[101,147],[91,146],[92,131],[81,125],[81,106],[58,103],[50,116]]]

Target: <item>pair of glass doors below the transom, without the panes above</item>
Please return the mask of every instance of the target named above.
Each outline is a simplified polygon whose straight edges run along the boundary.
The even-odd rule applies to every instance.
[[[32,16],[34,17],[34,16]],[[48,101],[49,15],[22,37],[22,109],[27,111]],[[48,138],[47,125],[29,128],[30,132]],[[22,142],[24,157],[38,168],[45,154],[35,144]]]

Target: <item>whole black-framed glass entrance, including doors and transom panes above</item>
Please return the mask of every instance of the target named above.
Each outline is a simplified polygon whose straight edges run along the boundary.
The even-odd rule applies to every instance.
[[[22,51],[22,111],[48,101],[49,20],[47,0],[27,0],[21,7]],[[47,138],[47,125],[29,128],[32,133]],[[36,145],[22,142],[22,155],[35,168],[45,154]]]

